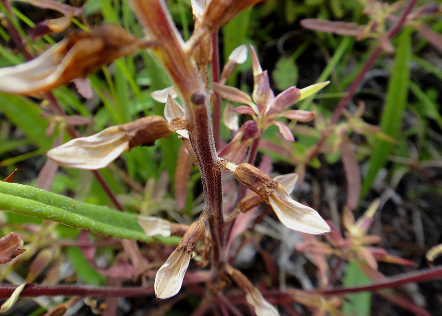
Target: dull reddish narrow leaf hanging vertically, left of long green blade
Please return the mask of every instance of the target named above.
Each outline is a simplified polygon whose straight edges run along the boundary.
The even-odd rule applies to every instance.
[[[348,141],[341,143],[342,163],[347,178],[347,204],[355,209],[360,196],[360,172],[356,153]]]

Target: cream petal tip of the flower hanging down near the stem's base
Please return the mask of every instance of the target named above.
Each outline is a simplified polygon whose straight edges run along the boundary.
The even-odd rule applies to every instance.
[[[191,254],[183,250],[172,252],[155,276],[155,295],[158,298],[169,298],[180,291],[190,258]]]

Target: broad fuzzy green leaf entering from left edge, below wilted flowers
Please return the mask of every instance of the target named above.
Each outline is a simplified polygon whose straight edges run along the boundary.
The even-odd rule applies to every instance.
[[[138,216],[87,204],[22,184],[0,182],[0,209],[49,219],[70,227],[119,239],[177,244],[179,238],[146,236]]]

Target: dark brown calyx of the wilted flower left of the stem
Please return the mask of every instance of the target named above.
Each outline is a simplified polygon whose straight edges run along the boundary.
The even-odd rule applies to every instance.
[[[122,124],[120,130],[129,142],[129,150],[136,146],[153,146],[159,138],[168,137],[169,124],[159,115],[146,116]]]

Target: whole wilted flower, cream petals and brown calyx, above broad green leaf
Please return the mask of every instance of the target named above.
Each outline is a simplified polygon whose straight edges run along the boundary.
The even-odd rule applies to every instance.
[[[46,155],[57,164],[76,169],[100,169],[121,153],[138,145],[151,146],[169,136],[166,120],[158,115],[106,128],[98,134],[80,137],[52,148]]]

